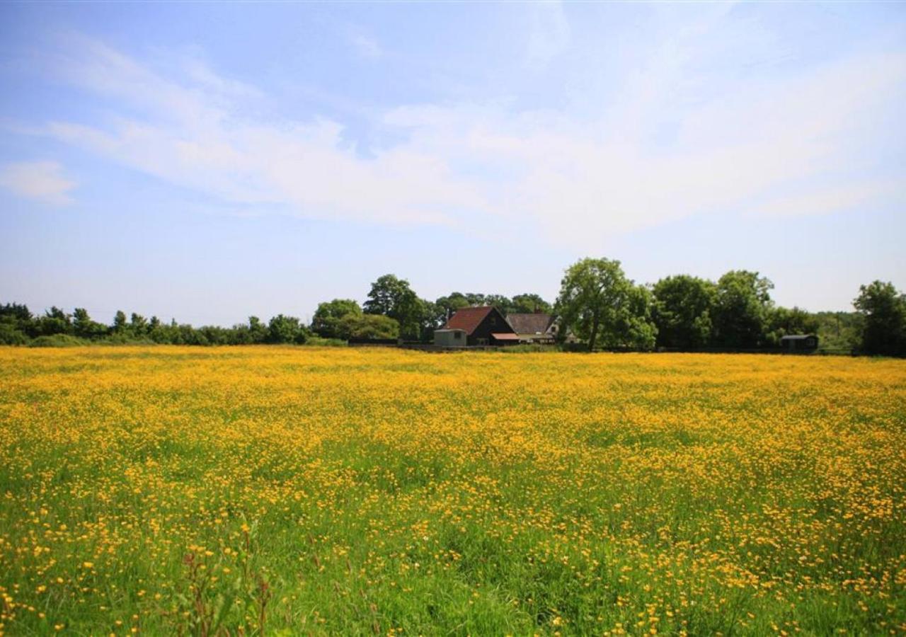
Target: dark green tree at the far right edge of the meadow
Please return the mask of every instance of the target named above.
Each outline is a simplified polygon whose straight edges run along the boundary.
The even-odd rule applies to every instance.
[[[863,315],[864,352],[906,355],[906,294],[898,292],[892,283],[874,281],[859,287],[853,305]]]

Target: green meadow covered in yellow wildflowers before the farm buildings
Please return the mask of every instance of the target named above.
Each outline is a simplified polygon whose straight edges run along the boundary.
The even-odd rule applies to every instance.
[[[0,632],[906,631],[906,362],[0,349]]]

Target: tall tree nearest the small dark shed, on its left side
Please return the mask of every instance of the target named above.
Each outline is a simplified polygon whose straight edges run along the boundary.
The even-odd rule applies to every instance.
[[[721,347],[756,348],[766,342],[774,288],[764,276],[731,270],[718,280],[714,304],[714,343]]]

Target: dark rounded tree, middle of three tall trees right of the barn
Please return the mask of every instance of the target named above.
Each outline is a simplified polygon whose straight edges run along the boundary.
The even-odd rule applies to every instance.
[[[708,345],[716,285],[698,276],[675,275],[660,279],[652,293],[659,345],[684,350]]]

